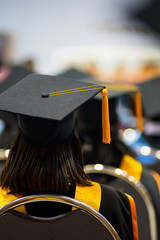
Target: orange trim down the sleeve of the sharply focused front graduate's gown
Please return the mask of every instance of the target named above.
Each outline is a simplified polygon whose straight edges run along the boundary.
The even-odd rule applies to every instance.
[[[131,207],[132,228],[133,228],[133,240],[138,240],[138,224],[137,224],[137,211],[134,199],[126,194]]]

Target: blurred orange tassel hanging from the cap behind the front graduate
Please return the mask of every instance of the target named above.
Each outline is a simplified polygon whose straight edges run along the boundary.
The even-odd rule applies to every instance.
[[[137,128],[139,131],[143,131],[141,93],[139,91],[135,93],[135,112],[137,116]]]

